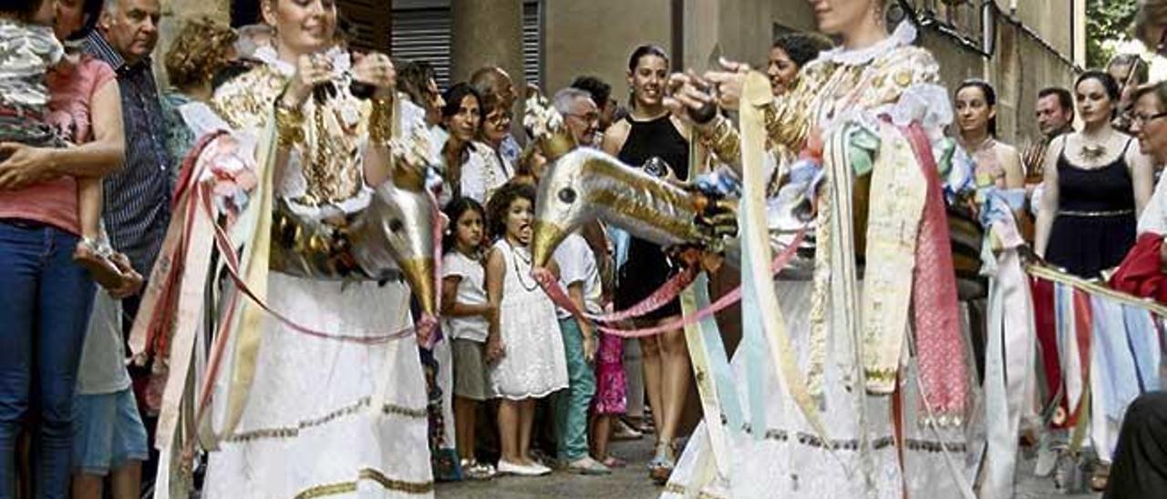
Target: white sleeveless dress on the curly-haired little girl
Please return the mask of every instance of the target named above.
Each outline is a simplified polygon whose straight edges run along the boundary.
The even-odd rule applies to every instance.
[[[506,265],[498,329],[504,356],[490,366],[490,393],[510,400],[538,399],[567,388],[567,359],[555,305],[531,276],[531,253],[495,243]]]

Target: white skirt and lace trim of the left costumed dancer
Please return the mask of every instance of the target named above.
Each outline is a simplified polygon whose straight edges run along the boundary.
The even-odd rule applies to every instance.
[[[292,68],[274,61],[270,49],[264,54],[285,78],[291,73]],[[263,77],[256,75],[240,77],[238,85],[246,85],[246,78]],[[263,78],[260,83],[267,85],[254,86],[282,82]],[[341,105],[355,103],[347,87],[341,93],[341,99],[348,99]],[[230,94],[219,97],[231,103]],[[310,112],[306,107],[308,115]],[[326,114],[327,119],[333,115]],[[343,112],[335,115],[348,118]],[[371,189],[359,175],[347,197],[320,206],[300,204],[296,199],[308,189],[320,187],[305,175],[306,159],[310,157],[322,156],[293,150],[282,178],[277,181],[274,195],[287,201],[291,210],[305,218],[323,219],[368,206]],[[361,166],[358,160],[323,157],[342,174]],[[379,284],[306,279],[273,269],[267,276],[267,304],[295,324],[334,336],[383,337],[412,324],[410,289],[399,281]],[[209,452],[203,497],[433,496],[426,382],[412,336],[368,343],[320,338],[271,315],[265,315],[260,329],[250,395],[233,434],[217,451]],[[226,353],[225,358],[231,358],[231,352]],[[218,381],[222,385],[228,379],[230,373],[224,373]],[[224,406],[212,407],[216,421],[221,421]]]

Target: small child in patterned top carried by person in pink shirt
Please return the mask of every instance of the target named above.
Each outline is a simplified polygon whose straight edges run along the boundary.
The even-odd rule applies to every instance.
[[[41,8],[53,8],[51,2],[44,3],[48,6]],[[64,47],[51,27],[0,17],[0,61],[4,61],[0,68],[0,142],[68,147],[62,133],[88,133],[57,131],[49,122],[47,75],[64,57]],[[103,287],[123,288],[125,280],[134,276],[128,260],[116,255],[102,238],[100,178],[77,178],[77,208],[82,238],[74,260],[88,268]]]

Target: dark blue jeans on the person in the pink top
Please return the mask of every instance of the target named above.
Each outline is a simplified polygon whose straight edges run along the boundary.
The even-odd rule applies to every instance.
[[[36,496],[69,494],[77,364],[95,291],[72,261],[76,246],[60,229],[0,220],[0,498],[15,494],[16,434],[34,396]]]

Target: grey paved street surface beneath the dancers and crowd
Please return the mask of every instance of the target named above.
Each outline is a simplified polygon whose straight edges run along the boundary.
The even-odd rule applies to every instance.
[[[661,487],[649,482],[645,470],[652,454],[650,442],[649,438],[615,442],[614,454],[628,459],[630,464],[628,468],[616,470],[610,477],[582,477],[566,472],[555,472],[537,478],[501,477],[490,482],[440,484],[436,496],[457,499],[656,498],[661,493]],[[1050,479],[1032,476],[1029,470],[1033,469],[1033,462],[1026,462],[1022,466],[1026,471],[1020,473],[1022,479],[1016,499],[1096,499],[1100,497],[1100,494],[1063,494],[1054,489]]]

